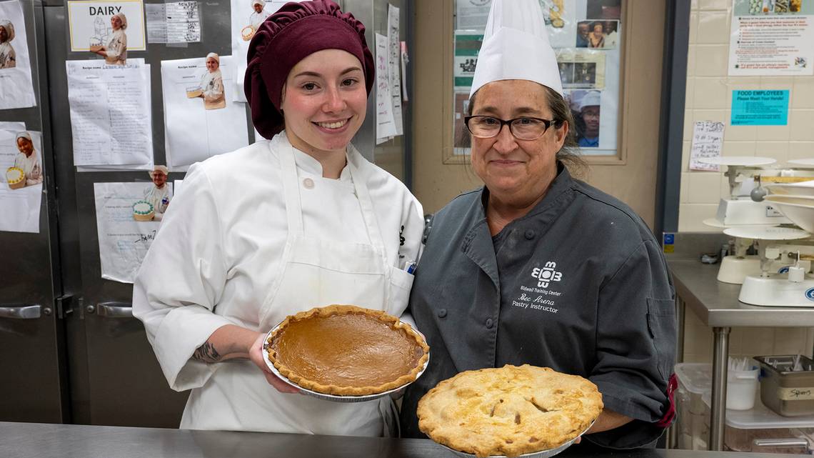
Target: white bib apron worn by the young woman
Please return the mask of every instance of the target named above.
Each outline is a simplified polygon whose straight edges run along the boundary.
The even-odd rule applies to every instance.
[[[260,307],[260,330],[273,328],[287,315],[314,306],[354,304],[392,311],[404,301],[403,288],[391,286],[392,269],[385,262],[384,244],[373,202],[359,170],[348,159],[370,244],[326,242],[304,236],[294,151],[279,148],[286,201],[288,236],[281,271]],[[348,155],[359,154],[348,145]],[[401,282],[403,283],[403,282]],[[400,310],[399,310],[400,313]],[[234,429],[357,436],[391,435],[397,431],[392,400],[333,403],[302,394],[283,394],[265,381],[247,360],[218,363],[207,383],[193,390],[181,421],[182,429]],[[224,425],[227,425],[224,427]]]

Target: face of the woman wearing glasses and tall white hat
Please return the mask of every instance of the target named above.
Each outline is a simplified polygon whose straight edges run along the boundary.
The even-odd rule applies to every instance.
[[[552,120],[545,89],[534,81],[492,81],[475,95],[473,115],[500,119],[539,117]],[[519,140],[503,126],[491,139],[472,137],[472,168],[484,180],[492,196],[528,204],[545,193],[557,176],[557,152],[568,132],[568,124],[554,125],[539,139]]]

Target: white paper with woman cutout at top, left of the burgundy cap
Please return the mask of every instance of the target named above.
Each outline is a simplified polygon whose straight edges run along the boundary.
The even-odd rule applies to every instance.
[[[170,170],[248,146],[246,105],[234,99],[233,62],[215,53],[161,62]]]

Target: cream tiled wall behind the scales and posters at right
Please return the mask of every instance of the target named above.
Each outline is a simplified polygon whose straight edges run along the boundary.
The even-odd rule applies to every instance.
[[[681,170],[679,231],[717,231],[705,226],[714,217],[729,185],[717,172],[690,172],[689,147],[694,121],[723,121],[724,156],[769,156],[778,162],[814,157],[814,77],[728,77],[731,0],[693,0],[690,13],[684,153]],[[729,126],[733,90],[790,90],[788,126]],[[730,355],[812,355],[811,328],[733,328]],[[687,310],[687,362],[709,362],[712,331]]]

